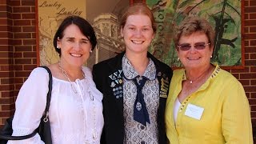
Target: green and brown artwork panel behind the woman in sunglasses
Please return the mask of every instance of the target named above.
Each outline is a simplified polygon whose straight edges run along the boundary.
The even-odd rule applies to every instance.
[[[242,5],[240,0],[145,0],[154,13],[158,32],[150,52],[169,66],[182,64],[174,50],[174,27],[188,16],[206,18],[216,36],[212,62],[226,68],[243,68]]]

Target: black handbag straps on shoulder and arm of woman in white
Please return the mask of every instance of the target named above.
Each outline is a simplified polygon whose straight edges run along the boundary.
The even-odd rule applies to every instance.
[[[40,66],[40,67],[46,69],[49,74],[49,84],[48,84],[49,91],[47,93],[47,98],[46,98],[46,110],[45,110],[45,113],[42,115],[43,121],[47,122],[49,120],[48,114],[49,114],[49,107],[50,107],[50,98],[51,98],[53,77],[50,72],[50,69],[47,66]],[[0,138],[9,139],[9,140],[22,140],[22,139],[32,138],[37,133],[38,133],[38,130],[36,129],[31,134],[27,134],[27,135],[23,135],[23,136],[0,135]]]

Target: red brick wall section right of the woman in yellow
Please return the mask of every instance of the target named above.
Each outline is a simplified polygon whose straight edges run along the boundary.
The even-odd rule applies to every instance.
[[[256,132],[256,1],[245,1],[244,6],[244,40],[246,68],[243,70],[231,70],[232,74],[242,82],[249,98],[251,117]],[[255,134],[254,134],[255,135]],[[256,136],[256,135],[255,135]]]

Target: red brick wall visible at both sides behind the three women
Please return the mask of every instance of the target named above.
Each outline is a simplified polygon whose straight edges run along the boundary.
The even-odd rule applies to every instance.
[[[256,129],[256,1],[245,0],[244,12],[246,67],[228,71],[246,90]],[[0,125],[13,114],[18,90],[36,67],[35,15],[34,0],[0,0]]]

